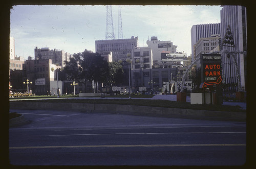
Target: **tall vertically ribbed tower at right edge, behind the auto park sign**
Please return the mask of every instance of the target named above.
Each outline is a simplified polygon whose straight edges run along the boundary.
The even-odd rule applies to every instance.
[[[221,9],[221,35],[222,39],[226,34],[228,26],[230,27],[234,47],[222,46],[222,50],[244,52],[247,51],[247,23],[246,8],[243,6],[222,6]],[[238,61],[239,74],[241,77],[241,86],[246,86],[246,55],[236,54]],[[222,56],[223,83],[238,83],[238,75],[234,60],[232,57]]]

